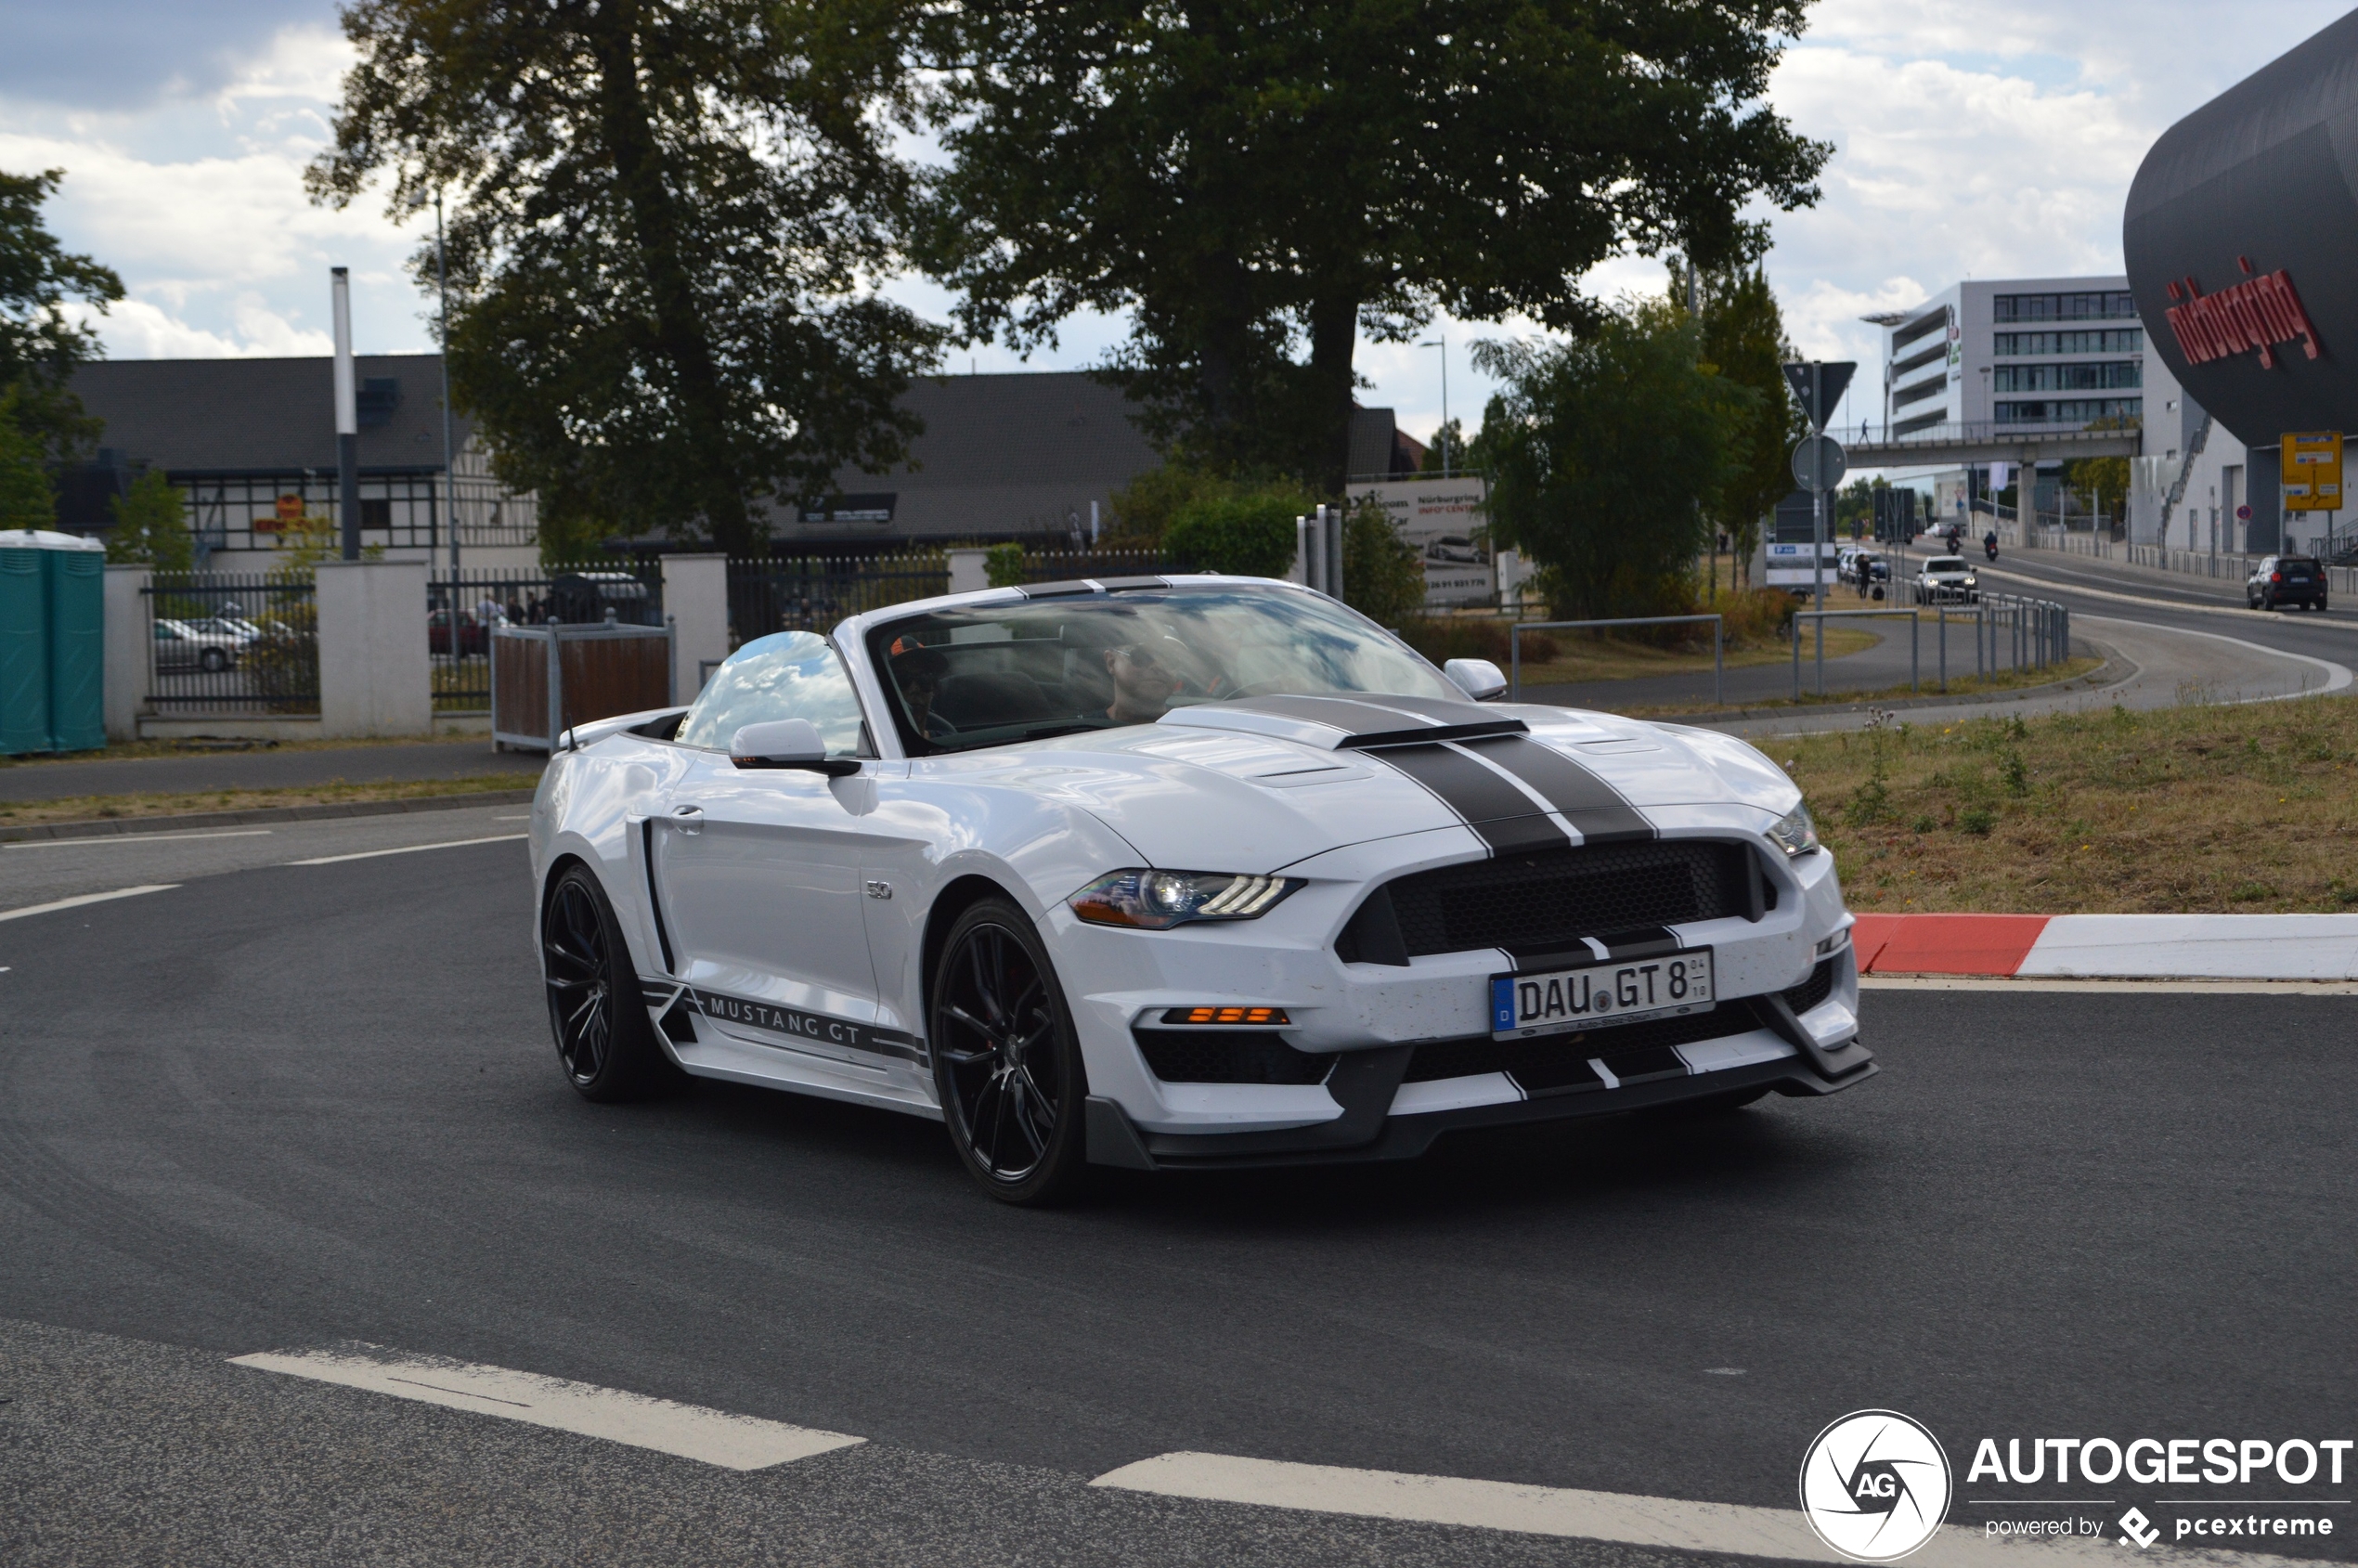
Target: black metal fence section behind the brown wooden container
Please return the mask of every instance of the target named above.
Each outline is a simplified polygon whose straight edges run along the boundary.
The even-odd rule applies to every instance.
[[[663,625],[663,568],[653,561],[594,561],[582,566],[448,568],[427,578],[427,653],[434,663],[434,707],[490,707],[490,627],[495,625]]]

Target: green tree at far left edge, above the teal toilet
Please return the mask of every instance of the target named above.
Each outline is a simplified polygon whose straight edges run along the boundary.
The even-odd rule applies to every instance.
[[[73,396],[73,368],[97,358],[99,335],[66,314],[80,299],[104,311],[123,297],[123,278],[59,245],[40,207],[66,170],[0,170],[0,389],[7,413],[45,462],[73,462],[99,436],[99,422]]]

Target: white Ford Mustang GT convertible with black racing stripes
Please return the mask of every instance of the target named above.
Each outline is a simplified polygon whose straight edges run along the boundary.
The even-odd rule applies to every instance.
[[[1450,670],[1212,575],[750,641],[540,783],[564,1070],[938,1118],[1012,1203],[1875,1073],[1783,771]]]

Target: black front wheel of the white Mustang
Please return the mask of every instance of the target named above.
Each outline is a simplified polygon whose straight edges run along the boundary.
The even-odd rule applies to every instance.
[[[1030,917],[976,903],[934,969],[934,1085],[950,1144],[1002,1203],[1056,1203],[1087,1165],[1089,1096],[1063,990]]]

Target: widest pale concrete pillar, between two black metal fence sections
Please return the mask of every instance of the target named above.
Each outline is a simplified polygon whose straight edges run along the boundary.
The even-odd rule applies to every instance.
[[[321,561],[318,717],[328,740],[434,733],[424,561]]]

